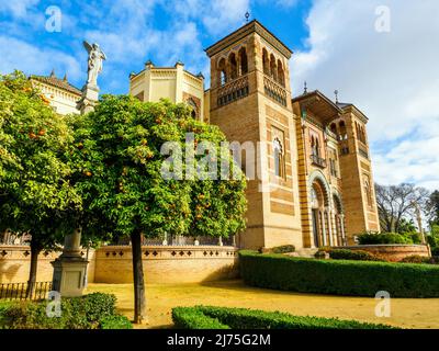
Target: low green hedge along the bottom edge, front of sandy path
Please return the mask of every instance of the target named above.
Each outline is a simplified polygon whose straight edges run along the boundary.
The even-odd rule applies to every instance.
[[[176,307],[172,320],[181,329],[393,329],[391,326],[357,320],[212,306]]]

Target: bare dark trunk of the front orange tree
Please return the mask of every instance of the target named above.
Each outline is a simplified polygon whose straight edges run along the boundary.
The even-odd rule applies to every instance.
[[[134,322],[140,324],[145,315],[145,283],[142,264],[142,235],[136,231],[131,235],[134,275]]]

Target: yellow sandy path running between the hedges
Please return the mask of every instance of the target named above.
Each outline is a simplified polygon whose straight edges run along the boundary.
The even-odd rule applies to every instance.
[[[132,284],[89,285],[88,292],[97,291],[115,294],[121,313],[133,318]],[[249,287],[237,280],[205,284],[147,285],[146,298],[148,325],[137,326],[140,328],[170,327],[170,312],[176,306],[215,305],[357,319],[403,328],[439,329],[439,298],[393,298],[391,318],[375,317],[374,298],[278,292]]]

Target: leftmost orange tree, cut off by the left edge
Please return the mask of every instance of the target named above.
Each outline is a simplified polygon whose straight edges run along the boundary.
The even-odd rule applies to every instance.
[[[0,231],[31,235],[27,294],[38,253],[56,248],[69,227],[68,213],[81,207],[63,161],[71,138],[66,121],[22,72],[0,76]]]

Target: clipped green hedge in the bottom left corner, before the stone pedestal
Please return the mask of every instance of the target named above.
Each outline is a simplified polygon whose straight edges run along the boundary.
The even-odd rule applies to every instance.
[[[93,293],[63,298],[60,317],[48,317],[49,302],[13,303],[1,310],[0,319],[9,329],[131,329],[130,320],[116,314],[116,297]]]

